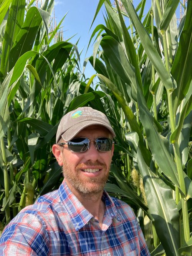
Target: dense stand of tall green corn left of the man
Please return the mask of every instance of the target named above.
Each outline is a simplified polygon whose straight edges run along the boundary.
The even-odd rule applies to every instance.
[[[51,146],[85,86],[77,46],[62,41],[63,19],[50,31],[54,1],[33,2],[0,1],[0,230],[61,183]]]

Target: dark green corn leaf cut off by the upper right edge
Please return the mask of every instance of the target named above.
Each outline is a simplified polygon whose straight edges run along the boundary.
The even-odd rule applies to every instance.
[[[177,82],[173,92],[174,114],[187,95],[192,81],[192,1],[187,2],[185,25],[180,35],[179,46],[172,65],[171,74]]]

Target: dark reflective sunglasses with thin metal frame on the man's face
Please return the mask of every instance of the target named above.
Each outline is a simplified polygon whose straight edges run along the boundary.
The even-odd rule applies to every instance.
[[[89,140],[88,138],[74,138],[71,141],[59,143],[58,145],[63,146],[65,144],[68,145],[70,151],[73,152],[85,152],[89,149],[89,142],[94,140]],[[101,137],[97,138],[95,141],[96,148],[101,152],[110,151],[112,149],[112,145],[114,141],[109,138]]]

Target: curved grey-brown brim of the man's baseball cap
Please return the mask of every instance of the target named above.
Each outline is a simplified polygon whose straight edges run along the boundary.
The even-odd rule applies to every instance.
[[[115,137],[115,133],[113,131],[113,129],[111,129],[110,126],[103,124],[102,122],[99,121],[94,121],[94,120],[87,120],[87,121],[83,121],[81,123],[78,123],[76,125],[74,125],[73,127],[69,128],[67,131],[65,131],[61,137],[64,139],[64,141],[70,141],[71,139],[73,139],[80,131],[82,131],[84,128],[90,126],[90,125],[102,125],[104,127],[106,127],[109,132],[111,132],[113,138]]]

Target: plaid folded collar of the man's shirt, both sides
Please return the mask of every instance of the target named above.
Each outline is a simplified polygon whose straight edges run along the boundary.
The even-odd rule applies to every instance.
[[[83,228],[83,226],[93,218],[93,215],[85,209],[83,204],[74,196],[67,186],[65,179],[59,187],[58,193],[60,203],[63,204],[63,207],[69,214],[75,230],[78,231]],[[111,218],[115,218],[117,216],[117,210],[113,200],[106,191],[103,191],[102,199],[105,202],[105,214],[108,214]]]

